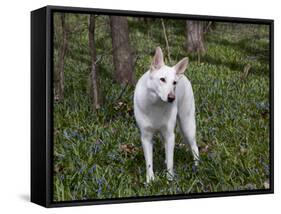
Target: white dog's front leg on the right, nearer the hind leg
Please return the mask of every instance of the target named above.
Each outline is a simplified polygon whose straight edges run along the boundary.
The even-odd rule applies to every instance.
[[[175,134],[173,131],[162,133],[165,140],[165,154],[167,165],[167,178],[173,180],[174,178],[174,148],[175,148]]]

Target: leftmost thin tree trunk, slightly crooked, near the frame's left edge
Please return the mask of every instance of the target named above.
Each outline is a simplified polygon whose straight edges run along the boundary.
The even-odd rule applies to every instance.
[[[58,87],[57,87],[57,100],[62,100],[64,97],[64,61],[68,45],[68,29],[65,21],[65,14],[61,14],[61,29],[62,29],[62,41],[59,48],[58,56]]]

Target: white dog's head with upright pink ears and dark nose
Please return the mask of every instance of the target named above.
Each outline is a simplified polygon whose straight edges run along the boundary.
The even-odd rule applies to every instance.
[[[150,66],[149,88],[162,101],[173,102],[176,99],[177,82],[184,75],[187,65],[188,58],[185,57],[173,67],[166,66],[163,52],[160,47],[157,47]]]

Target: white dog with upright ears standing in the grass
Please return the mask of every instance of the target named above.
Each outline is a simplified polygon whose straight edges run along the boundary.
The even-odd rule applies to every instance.
[[[157,47],[150,70],[136,85],[134,113],[141,131],[147,183],[154,180],[152,137],[155,132],[160,132],[165,140],[167,177],[169,180],[174,177],[174,129],[177,118],[184,140],[191,148],[195,166],[198,165],[194,96],[191,83],[184,76],[187,65],[186,57],[173,67],[166,66],[162,50]]]

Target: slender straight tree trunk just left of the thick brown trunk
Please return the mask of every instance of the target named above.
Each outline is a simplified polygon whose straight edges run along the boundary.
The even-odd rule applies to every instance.
[[[100,108],[100,93],[96,66],[95,15],[90,15],[89,18],[89,48],[91,52],[90,96],[92,99],[92,108],[96,111]]]

